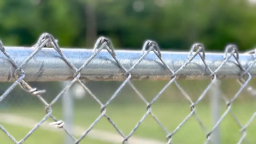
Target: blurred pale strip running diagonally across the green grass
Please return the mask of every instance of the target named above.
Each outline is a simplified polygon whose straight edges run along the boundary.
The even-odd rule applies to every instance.
[[[38,121],[36,121],[35,119],[26,118],[23,116],[18,116],[18,115],[13,115],[13,114],[4,114],[4,113],[0,113],[0,122],[6,123],[6,124],[22,126],[22,127],[27,127],[27,128],[31,128],[31,129],[38,123]],[[45,121],[42,125],[40,125],[39,128],[48,130],[48,131],[53,131],[53,132],[61,131],[61,129],[58,129],[57,126],[50,125],[49,121]],[[86,129],[81,128],[79,126],[74,126],[74,128],[73,128],[73,134],[75,136],[82,136],[82,134],[85,131],[86,131]],[[33,136],[33,134],[32,134],[32,136]],[[115,134],[115,133],[102,131],[102,130],[91,130],[87,134],[87,136],[91,139],[101,140],[101,141],[110,142],[110,143],[119,143],[120,144],[123,141],[122,136]],[[129,143],[130,144],[165,144],[162,141],[151,140],[148,138],[138,138],[138,137],[134,137],[134,136],[129,138]]]

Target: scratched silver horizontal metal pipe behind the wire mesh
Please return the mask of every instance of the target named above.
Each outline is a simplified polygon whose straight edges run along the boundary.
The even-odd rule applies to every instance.
[[[30,47],[5,47],[7,52],[20,65],[34,49]],[[63,53],[76,68],[81,67],[92,55],[91,49],[62,49]],[[116,50],[116,57],[128,70],[140,59],[141,51]],[[161,52],[163,60],[173,70],[177,71],[186,61],[188,52]],[[206,53],[205,58],[209,67],[214,71],[223,61],[223,53]],[[254,60],[251,54],[240,54],[239,59],[248,68]],[[0,53],[0,82],[15,81],[15,68],[11,62]],[[43,48],[23,68],[25,81],[65,81],[72,80],[74,70],[60,57],[53,48]],[[232,57],[218,72],[218,78],[237,79],[241,69]],[[256,66],[250,70],[252,77],[256,76]],[[180,73],[178,79],[209,79],[210,73],[200,56],[197,55]],[[131,72],[132,79],[170,80],[171,73],[164,68],[161,61],[150,52],[141,63]],[[82,71],[80,80],[83,81],[121,81],[124,71],[106,51],[102,50]]]

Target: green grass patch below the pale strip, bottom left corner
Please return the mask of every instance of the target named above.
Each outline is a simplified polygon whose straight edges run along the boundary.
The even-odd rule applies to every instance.
[[[27,127],[22,126],[14,126],[11,124],[3,124],[4,128],[8,130],[12,134],[12,136],[17,140],[20,141],[29,131]],[[36,129],[27,140],[25,140],[24,144],[61,144],[64,143],[65,137],[62,132],[51,132],[48,130],[42,130],[40,128]],[[0,141],[3,144],[13,144],[13,141],[3,132],[0,132]],[[81,144],[110,144],[107,142],[102,142],[99,140],[92,140],[88,138],[84,138],[81,141]]]

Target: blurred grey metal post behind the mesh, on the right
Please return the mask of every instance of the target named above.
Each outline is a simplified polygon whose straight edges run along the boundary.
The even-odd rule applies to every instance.
[[[220,119],[220,80],[215,80],[215,85],[211,88],[211,110],[213,125]],[[220,129],[219,126],[212,132],[213,144],[220,144]]]

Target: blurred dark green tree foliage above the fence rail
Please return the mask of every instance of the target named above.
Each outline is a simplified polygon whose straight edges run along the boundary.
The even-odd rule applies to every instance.
[[[0,37],[4,44],[31,45],[49,32],[61,46],[86,43],[86,4],[94,4],[97,35],[108,36],[116,47],[140,48],[146,39],[162,49],[188,49],[202,42],[222,51],[228,43],[239,49],[255,45],[256,9],[247,0],[3,0],[0,2]],[[90,21],[89,21],[90,22]]]

